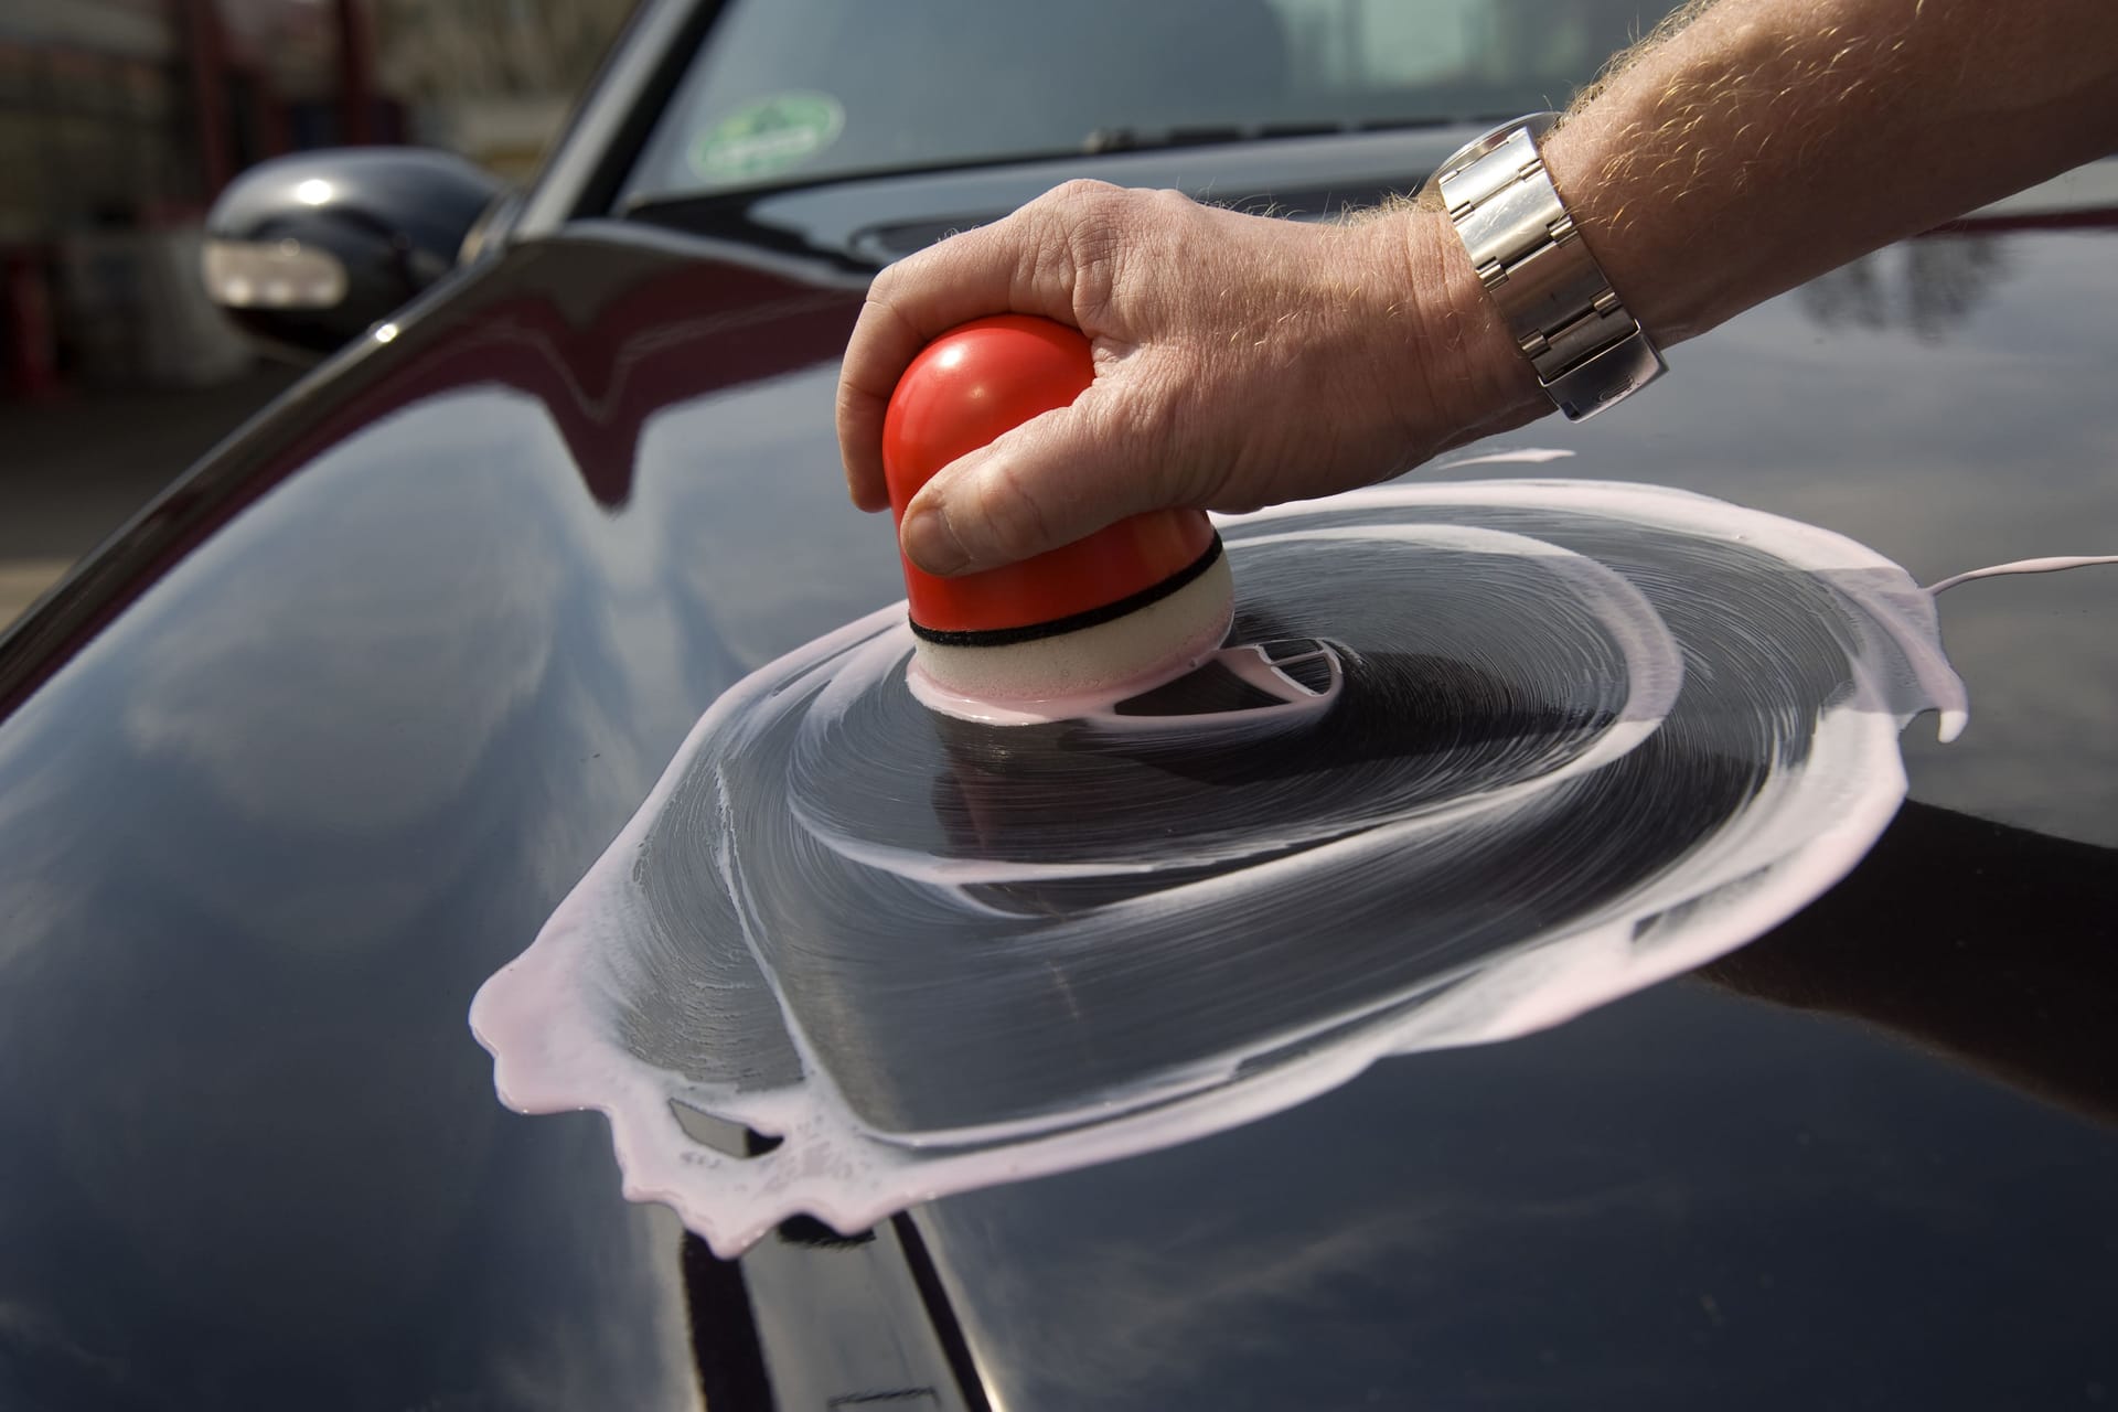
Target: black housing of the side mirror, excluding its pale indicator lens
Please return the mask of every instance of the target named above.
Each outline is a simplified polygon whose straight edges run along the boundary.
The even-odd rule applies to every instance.
[[[330,354],[455,269],[502,184],[453,152],[341,148],[250,167],[205,216],[208,239],[320,250],[345,269],[328,309],[231,307],[273,347]]]

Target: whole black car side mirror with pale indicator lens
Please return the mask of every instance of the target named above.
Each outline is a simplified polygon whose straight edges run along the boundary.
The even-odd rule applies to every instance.
[[[328,354],[449,273],[500,191],[428,148],[277,157],[208,212],[205,292],[252,337]]]

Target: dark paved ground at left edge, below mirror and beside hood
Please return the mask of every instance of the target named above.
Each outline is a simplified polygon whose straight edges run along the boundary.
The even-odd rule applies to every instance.
[[[294,377],[0,400],[0,627]]]

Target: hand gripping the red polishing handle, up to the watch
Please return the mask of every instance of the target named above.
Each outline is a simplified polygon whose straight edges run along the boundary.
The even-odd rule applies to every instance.
[[[877,275],[839,377],[862,510],[890,506],[881,428],[898,377],[989,313],[1080,328],[1095,383],[913,497],[900,540],[932,574],[1161,506],[1252,510],[1366,485],[1542,404],[1438,214],[1303,224],[1070,182]]]

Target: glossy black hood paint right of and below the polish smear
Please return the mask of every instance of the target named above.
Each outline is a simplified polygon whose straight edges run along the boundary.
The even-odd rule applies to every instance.
[[[2112,553],[2110,214],[2052,216],[1883,252],[1675,349],[1661,396],[1508,440],[1843,529],[1921,580]],[[921,1209],[995,1404],[2110,1399],[2114,612],[2110,569],[1949,593],[1968,735],[1915,724],[1917,802],[1877,853],[1711,974]]]

